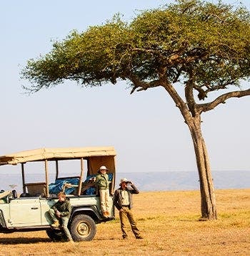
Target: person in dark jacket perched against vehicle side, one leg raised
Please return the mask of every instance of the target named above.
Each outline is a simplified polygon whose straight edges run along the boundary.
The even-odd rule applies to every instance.
[[[66,237],[70,242],[73,242],[68,229],[68,222],[71,214],[71,204],[69,202],[69,198],[66,197],[64,192],[59,192],[57,196],[59,200],[53,205],[53,207],[51,207],[51,209],[49,209],[49,215],[54,221],[54,223],[51,224],[51,227],[60,227],[59,220],[61,220],[61,227],[64,229]]]

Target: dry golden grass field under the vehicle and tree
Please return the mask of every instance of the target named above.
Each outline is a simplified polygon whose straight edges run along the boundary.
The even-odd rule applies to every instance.
[[[218,219],[199,222],[199,191],[141,192],[134,214],[144,240],[121,239],[119,214],[91,242],[51,242],[45,231],[0,234],[0,255],[250,255],[250,189],[216,191]]]

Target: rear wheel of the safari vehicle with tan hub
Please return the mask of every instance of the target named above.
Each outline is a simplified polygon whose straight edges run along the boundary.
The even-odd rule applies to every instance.
[[[88,215],[79,214],[72,219],[69,229],[74,241],[91,241],[96,234],[96,223]]]

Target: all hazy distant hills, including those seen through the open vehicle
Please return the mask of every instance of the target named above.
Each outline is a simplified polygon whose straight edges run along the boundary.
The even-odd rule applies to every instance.
[[[213,171],[215,189],[250,188],[250,171]],[[29,174],[29,181],[44,181],[44,175]],[[199,176],[196,171],[156,171],[116,173],[116,188],[121,178],[126,177],[136,184],[140,191],[199,190]],[[49,177],[50,181],[54,176]],[[22,191],[21,174],[9,172],[0,174],[0,190]]]

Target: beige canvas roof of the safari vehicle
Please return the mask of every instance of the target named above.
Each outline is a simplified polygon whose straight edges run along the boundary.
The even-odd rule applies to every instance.
[[[26,163],[42,160],[62,160],[88,158],[94,156],[116,156],[114,147],[88,147],[88,148],[38,148],[18,153],[10,153],[0,156],[0,166],[4,164],[16,165],[17,163]]]

